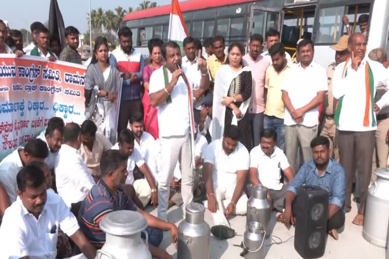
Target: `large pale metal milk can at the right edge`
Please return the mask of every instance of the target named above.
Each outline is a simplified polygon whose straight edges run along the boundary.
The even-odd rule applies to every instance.
[[[363,237],[380,247],[386,245],[389,219],[389,168],[375,171],[377,180],[372,181],[367,194]]]

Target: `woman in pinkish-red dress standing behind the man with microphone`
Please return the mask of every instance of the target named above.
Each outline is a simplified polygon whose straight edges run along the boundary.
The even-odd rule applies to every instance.
[[[142,104],[144,107],[144,130],[151,134],[154,139],[158,139],[158,110],[155,107],[151,106],[150,97],[148,96],[148,83],[151,77],[151,74],[159,69],[163,65],[162,51],[161,47],[164,44],[162,39],[153,38],[150,39],[147,43],[148,51],[150,53],[151,63],[143,68],[143,87],[144,95],[142,99]]]

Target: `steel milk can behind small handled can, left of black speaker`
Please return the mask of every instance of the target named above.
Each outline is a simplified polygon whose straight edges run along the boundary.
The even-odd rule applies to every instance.
[[[267,200],[267,188],[262,185],[251,188],[251,197],[247,201],[246,224],[259,222],[266,237],[270,235],[270,202]]]

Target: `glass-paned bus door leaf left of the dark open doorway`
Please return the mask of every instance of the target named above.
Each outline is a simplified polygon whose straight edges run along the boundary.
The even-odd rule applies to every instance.
[[[267,8],[260,5],[252,5],[250,10],[250,19],[248,22],[247,42],[250,41],[250,36],[253,34],[266,35],[268,29],[281,29],[281,9]],[[246,52],[248,44],[246,45]]]

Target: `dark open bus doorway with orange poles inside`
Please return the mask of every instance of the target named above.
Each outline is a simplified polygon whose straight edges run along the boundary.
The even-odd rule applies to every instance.
[[[296,56],[297,41],[313,39],[316,1],[285,0],[282,12],[281,42],[292,58]]]

